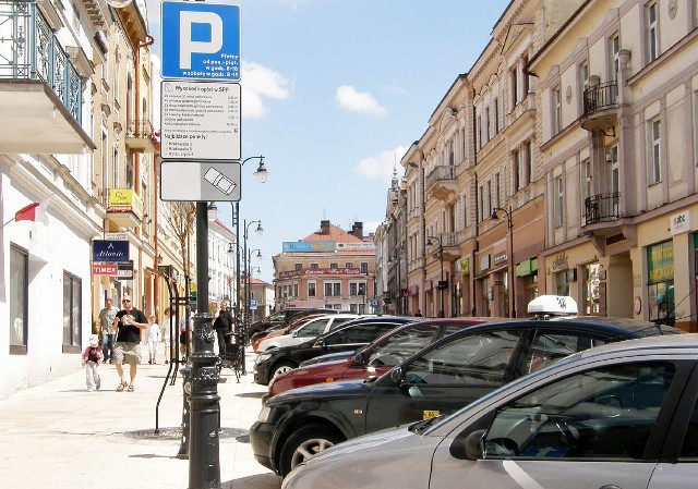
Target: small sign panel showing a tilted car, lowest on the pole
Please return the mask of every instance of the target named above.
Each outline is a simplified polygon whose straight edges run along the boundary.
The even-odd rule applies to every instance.
[[[239,161],[163,161],[160,199],[165,201],[239,201]]]

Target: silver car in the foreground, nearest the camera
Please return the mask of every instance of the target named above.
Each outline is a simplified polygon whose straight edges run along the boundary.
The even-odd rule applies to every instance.
[[[449,416],[325,450],[282,489],[693,489],[697,359],[698,334],[577,353]]]

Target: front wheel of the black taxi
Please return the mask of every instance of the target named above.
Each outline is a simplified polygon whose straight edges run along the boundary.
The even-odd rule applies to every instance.
[[[281,449],[279,457],[281,477],[286,477],[298,464],[340,441],[344,441],[341,435],[323,425],[308,425],[296,430]]]

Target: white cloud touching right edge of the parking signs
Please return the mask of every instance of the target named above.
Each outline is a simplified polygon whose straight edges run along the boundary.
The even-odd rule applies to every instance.
[[[242,61],[242,117],[261,119],[269,112],[265,98],[286,100],[291,95],[288,78],[260,63]]]

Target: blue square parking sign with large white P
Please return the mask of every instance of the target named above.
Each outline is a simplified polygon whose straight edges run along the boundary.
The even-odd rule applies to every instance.
[[[163,77],[240,80],[240,5],[163,2]]]

